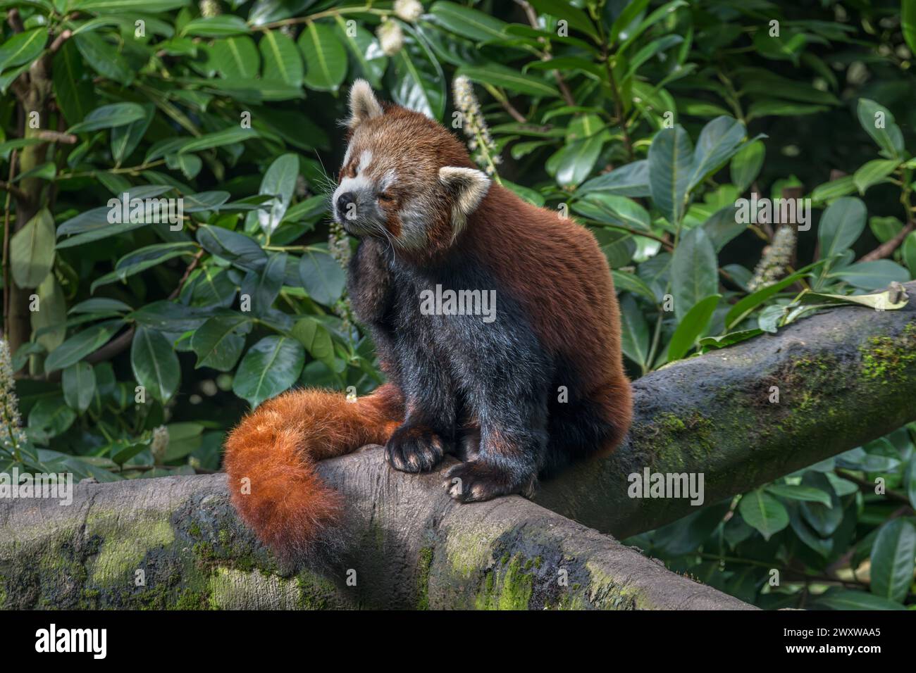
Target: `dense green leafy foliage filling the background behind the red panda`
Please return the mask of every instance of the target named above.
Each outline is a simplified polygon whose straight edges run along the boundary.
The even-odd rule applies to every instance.
[[[916,277],[916,4],[394,5],[0,2],[4,332],[28,374],[0,468],[216,470],[249,405],[378,383],[326,212],[356,77],[445,124],[473,82],[481,166],[602,244],[634,377]],[[742,221],[752,191],[810,198],[811,226]],[[125,192],[183,198],[181,226],[113,223]],[[912,606],[914,437],[635,541],[768,607]]]

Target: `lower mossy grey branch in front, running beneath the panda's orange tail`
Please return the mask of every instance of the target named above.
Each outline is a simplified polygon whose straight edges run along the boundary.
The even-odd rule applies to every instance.
[[[442,473],[392,472],[380,450],[321,472],[350,537],[309,568],[257,544],[224,474],[79,484],[69,506],[4,499],[0,607],[750,608],[519,496],[457,505]]]

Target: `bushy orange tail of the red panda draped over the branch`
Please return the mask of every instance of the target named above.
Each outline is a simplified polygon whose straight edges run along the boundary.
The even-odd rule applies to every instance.
[[[335,524],[341,506],[340,494],[316,472],[316,461],[384,444],[401,418],[401,396],[390,384],[354,402],[314,389],[265,402],[225,443],[235,509],[280,556],[305,554]]]

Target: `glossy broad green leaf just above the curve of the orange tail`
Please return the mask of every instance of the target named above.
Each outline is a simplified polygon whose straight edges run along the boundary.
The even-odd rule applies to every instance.
[[[302,344],[283,336],[268,336],[248,349],[238,365],[233,392],[252,407],[296,383],[305,364]]]

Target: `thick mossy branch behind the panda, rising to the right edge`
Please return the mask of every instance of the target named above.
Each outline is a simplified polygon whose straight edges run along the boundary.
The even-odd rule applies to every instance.
[[[916,420],[916,282],[904,287],[903,309],[825,310],[643,376],[625,443],[544,483],[535,502],[628,537],[696,509],[628,497],[629,474],[702,472],[713,505]]]

